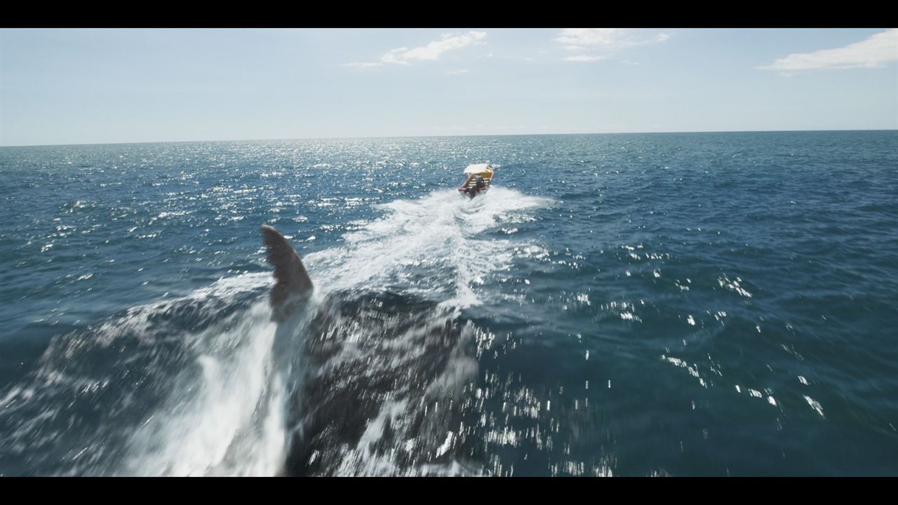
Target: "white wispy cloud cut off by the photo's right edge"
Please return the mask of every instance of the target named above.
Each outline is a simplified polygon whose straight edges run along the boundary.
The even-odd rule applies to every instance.
[[[876,67],[898,60],[898,29],[883,31],[866,40],[839,49],[823,49],[813,53],[793,53],[779,58],[762,70],[807,72],[833,68]]]

